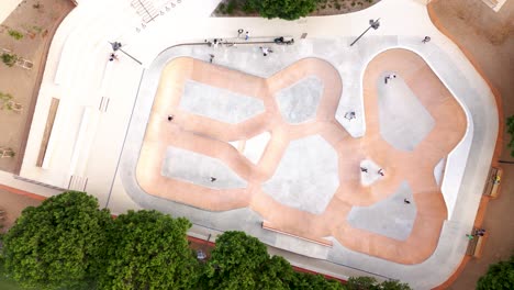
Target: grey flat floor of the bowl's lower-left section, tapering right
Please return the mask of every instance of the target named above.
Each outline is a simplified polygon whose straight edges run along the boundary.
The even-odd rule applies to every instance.
[[[166,149],[161,175],[213,189],[247,186],[244,179],[221,160],[174,146]],[[211,177],[215,180],[211,180]]]

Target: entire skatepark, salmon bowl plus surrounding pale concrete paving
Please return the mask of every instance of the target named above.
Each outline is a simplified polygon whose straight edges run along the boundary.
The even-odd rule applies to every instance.
[[[113,213],[185,216],[205,241],[245,231],[334,277],[440,285],[465,255],[498,134],[467,58],[420,1],[297,22],[209,18],[214,2],[183,1],[138,30],[130,5],[74,10],[52,44],[20,176],[52,186],[42,194],[87,190]],[[204,42],[220,37],[237,44]],[[113,41],[126,54],[110,62]]]

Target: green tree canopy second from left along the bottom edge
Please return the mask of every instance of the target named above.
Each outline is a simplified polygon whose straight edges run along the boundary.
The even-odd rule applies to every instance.
[[[191,223],[157,211],[128,211],[109,233],[100,289],[191,289],[198,263],[189,249]]]

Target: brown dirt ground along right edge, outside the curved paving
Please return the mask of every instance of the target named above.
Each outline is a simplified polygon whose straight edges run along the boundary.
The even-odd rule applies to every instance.
[[[454,41],[463,46],[500,90],[503,112],[514,114],[514,2],[507,1],[500,12],[493,12],[480,0],[434,1],[433,8]],[[503,143],[510,140],[504,134]],[[501,160],[513,161],[510,149],[503,147]],[[468,263],[450,289],[474,289],[477,280],[489,265],[507,259],[514,253],[514,165],[504,169],[501,196],[489,203],[483,227],[490,233],[483,255]]]

